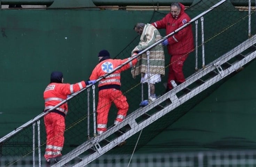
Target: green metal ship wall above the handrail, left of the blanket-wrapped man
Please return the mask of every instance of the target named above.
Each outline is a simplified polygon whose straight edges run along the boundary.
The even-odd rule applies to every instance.
[[[110,10],[0,10],[0,124],[6,127],[0,136],[43,110],[42,93],[52,71],[62,71],[65,82],[87,80],[101,49],[117,55],[137,36],[134,16],[142,12],[115,14]],[[143,16],[149,20],[152,11]]]

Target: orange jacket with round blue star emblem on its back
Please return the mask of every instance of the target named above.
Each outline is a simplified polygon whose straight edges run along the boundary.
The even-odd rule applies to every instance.
[[[101,77],[102,75],[112,71],[117,66],[123,64],[124,62],[128,61],[130,58],[126,59],[106,59],[102,62],[100,62],[94,70],[92,71],[92,74],[90,76],[90,80],[95,80]],[[133,59],[130,63],[124,65],[119,70],[116,70],[114,73],[110,74],[105,79],[102,79],[99,81],[98,87],[105,86],[105,85],[121,85],[121,72],[124,70],[129,69],[130,67],[134,66],[137,63],[137,58]]]

